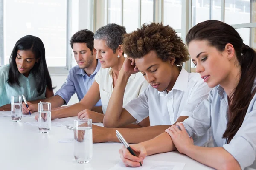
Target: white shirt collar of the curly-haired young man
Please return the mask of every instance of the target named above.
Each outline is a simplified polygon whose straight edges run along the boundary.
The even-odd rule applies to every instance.
[[[172,88],[172,90],[179,90],[179,91],[187,91],[188,89],[188,79],[189,73],[184,69],[181,68],[180,74]],[[158,91],[158,96],[165,96],[167,94],[166,91]]]

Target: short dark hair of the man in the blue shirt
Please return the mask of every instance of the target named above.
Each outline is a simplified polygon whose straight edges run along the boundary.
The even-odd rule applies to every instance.
[[[93,54],[93,38],[94,33],[88,29],[82,29],[76,32],[70,40],[71,48],[73,49],[74,43],[86,43],[86,46],[90,49],[91,53]]]

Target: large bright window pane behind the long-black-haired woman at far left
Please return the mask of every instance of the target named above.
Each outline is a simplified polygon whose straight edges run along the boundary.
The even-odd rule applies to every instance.
[[[66,66],[67,0],[4,0],[4,64],[28,34],[43,41],[47,66]]]

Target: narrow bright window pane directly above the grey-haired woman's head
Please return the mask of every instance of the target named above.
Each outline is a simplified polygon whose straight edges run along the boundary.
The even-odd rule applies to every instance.
[[[108,0],[108,23],[121,23],[121,0]]]

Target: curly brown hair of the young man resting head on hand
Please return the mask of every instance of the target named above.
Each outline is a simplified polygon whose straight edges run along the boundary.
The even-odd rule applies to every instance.
[[[133,59],[142,58],[149,51],[155,50],[163,61],[175,59],[176,65],[183,65],[189,60],[188,50],[169,25],[162,23],[143,24],[140,29],[124,35],[125,54]]]

